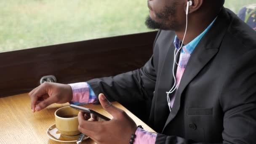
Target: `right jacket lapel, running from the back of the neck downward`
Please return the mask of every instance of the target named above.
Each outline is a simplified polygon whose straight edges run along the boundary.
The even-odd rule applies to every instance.
[[[194,51],[192,52],[187,67],[181,78],[176,98],[172,107],[172,112],[168,116],[164,128],[171,122],[180,109],[181,94],[193,78],[203,69],[203,67],[216,55],[219,51],[221,41],[227,31],[229,21],[227,21],[227,11],[223,8],[216,19],[213,26],[200,40]],[[216,30],[219,29],[219,30]],[[164,131],[163,128],[163,131]]]

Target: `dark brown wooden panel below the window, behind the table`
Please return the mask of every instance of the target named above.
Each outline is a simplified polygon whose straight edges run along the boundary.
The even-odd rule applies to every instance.
[[[142,67],[157,31],[0,53],[0,97],[27,93],[45,75],[75,83]],[[107,67],[106,67],[107,66]]]

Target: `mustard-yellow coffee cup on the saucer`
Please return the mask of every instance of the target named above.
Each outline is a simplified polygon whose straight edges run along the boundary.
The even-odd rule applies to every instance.
[[[75,136],[80,134],[78,131],[78,110],[73,109],[69,106],[61,107],[55,112],[55,123],[56,128],[59,130],[61,135],[64,136]]]

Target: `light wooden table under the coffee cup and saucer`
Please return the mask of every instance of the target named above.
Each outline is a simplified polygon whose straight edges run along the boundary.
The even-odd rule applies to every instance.
[[[112,104],[123,109],[137,125],[142,125],[147,131],[155,132],[118,102]],[[69,104],[52,104],[40,112],[32,113],[27,93],[0,98],[0,144],[60,144],[60,142],[49,139],[46,131],[55,123],[56,109],[67,105]],[[102,109],[101,105],[88,104],[84,107],[109,118],[112,117]],[[83,144],[95,144],[95,142],[87,139],[83,141]]]

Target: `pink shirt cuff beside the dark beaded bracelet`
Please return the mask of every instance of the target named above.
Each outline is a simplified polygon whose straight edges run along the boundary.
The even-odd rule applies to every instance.
[[[133,144],[155,144],[157,133],[149,133],[148,131],[137,128],[135,132],[136,138]]]

